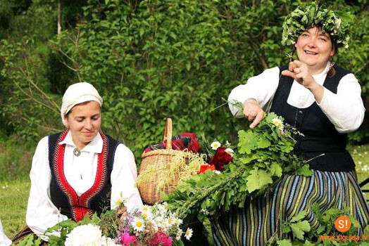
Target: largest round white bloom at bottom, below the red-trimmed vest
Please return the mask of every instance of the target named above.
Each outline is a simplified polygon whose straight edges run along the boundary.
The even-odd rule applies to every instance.
[[[76,226],[67,235],[65,246],[101,246],[101,231],[99,226],[92,224]]]

